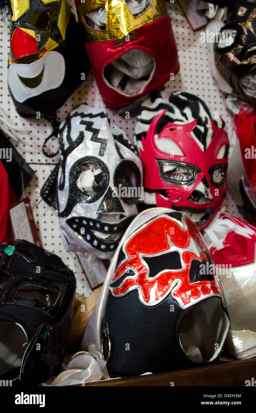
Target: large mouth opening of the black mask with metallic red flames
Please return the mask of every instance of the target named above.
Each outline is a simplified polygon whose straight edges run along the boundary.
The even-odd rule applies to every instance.
[[[229,319],[220,298],[200,301],[182,318],[179,343],[187,357],[195,363],[213,361],[223,347]]]

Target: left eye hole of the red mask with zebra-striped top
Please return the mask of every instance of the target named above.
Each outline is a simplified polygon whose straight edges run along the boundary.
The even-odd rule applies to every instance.
[[[156,159],[161,178],[167,182],[176,185],[191,185],[195,180],[197,173],[200,173],[198,166],[188,164],[182,161],[168,161],[165,159]]]

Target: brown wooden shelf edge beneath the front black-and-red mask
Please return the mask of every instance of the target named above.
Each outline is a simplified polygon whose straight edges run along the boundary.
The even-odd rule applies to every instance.
[[[218,363],[213,366],[151,374],[126,379],[86,383],[85,386],[245,386],[245,380],[256,378],[256,358]]]

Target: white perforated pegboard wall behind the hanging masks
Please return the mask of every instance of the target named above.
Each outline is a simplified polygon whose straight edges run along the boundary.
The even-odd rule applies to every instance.
[[[195,33],[192,31],[177,1],[175,3],[165,2],[165,4],[170,14],[180,62],[179,74],[175,76],[175,80],[166,83],[166,91],[172,93],[174,90],[182,89],[198,95],[209,107],[214,111],[218,111],[220,116],[225,119],[231,134],[233,131],[233,115],[225,104],[225,95],[220,92],[218,85],[211,77],[208,48],[205,43],[199,42],[200,31]],[[45,119],[23,119],[14,108],[7,87],[9,44],[10,24],[8,19],[5,19],[5,22],[3,19],[0,19],[0,107],[10,117],[9,121],[12,124],[31,131],[29,135],[19,133],[17,135],[19,143],[12,142],[36,172],[36,176],[31,181],[29,187],[26,188],[24,196],[29,195],[31,199],[31,207],[43,247],[59,255],[69,268],[74,271],[77,277],[77,292],[87,297],[91,290],[84,279],[74,254],[66,252],[62,245],[57,216],[44,201],[40,202],[40,198],[36,196],[36,188],[42,188],[45,179],[50,174],[50,171],[53,170],[59,158],[45,158],[41,151],[45,138],[52,131],[50,123],[45,121]],[[136,116],[125,119],[114,109],[106,109],[91,71],[87,75],[86,80],[69,97],[65,105],[57,111],[58,121],[64,120],[72,107],[82,102],[87,102],[96,109],[106,111],[110,120],[122,128],[131,141],[133,140]],[[231,214],[242,218],[230,195],[227,197],[225,207]]]

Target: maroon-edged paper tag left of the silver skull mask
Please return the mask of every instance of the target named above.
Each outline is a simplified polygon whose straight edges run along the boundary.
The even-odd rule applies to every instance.
[[[9,208],[12,235],[16,240],[26,240],[42,247],[36,223],[30,206],[29,197],[22,199]]]

